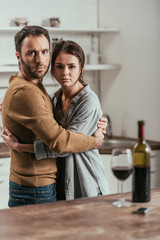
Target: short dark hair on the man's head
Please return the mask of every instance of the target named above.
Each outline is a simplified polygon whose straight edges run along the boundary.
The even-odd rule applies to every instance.
[[[33,36],[44,35],[48,39],[49,46],[50,46],[49,33],[45,28],[40,26],[26,26],[22,28],[19,32],[17,32],[14,37],[15,48],[17,52],[21,53],[22,42],[24,38],[26,38],[28,35],[33,35]]]

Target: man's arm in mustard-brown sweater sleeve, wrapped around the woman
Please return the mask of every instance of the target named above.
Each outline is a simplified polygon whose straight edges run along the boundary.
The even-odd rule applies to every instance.
[[[35,91],[35,87],[25,86],[16,91],[7,114],[31,130],[57,153],[84,152],[98,148],[103,141],[103,134],[98,137],[89,137],[82,133],[70,132],[59,126],[51,110],[48,109],[43,94],[39,90]],[[13,134],[17,135],[14,132]],[[22,136],[23,133],[20,134]]]

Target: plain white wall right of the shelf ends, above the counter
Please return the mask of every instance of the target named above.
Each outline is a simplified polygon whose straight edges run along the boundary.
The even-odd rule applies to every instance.
[[[146,138],[160,140],[160,1],[99,0],[100,27],[120,33],[103,36],[101,51],[119,72],[101,74],[101,101],[114,135],[137,136],[146,121]]]

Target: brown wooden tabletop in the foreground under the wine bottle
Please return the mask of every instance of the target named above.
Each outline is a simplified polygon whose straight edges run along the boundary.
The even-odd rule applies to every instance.
[[[1,240],[132,240],[160,239],[160,189],[149,203],[116,208],[119,195],[81,198],[0,211]],[[131,194],[125,195],[131,199]],[[133,212],[149,207],[146,215]]]

